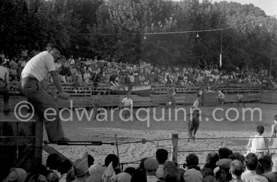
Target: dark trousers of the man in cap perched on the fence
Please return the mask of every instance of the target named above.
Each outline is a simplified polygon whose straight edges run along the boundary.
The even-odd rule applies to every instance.
[[[47,115],[49,119],[53,119],[55,117],[53,121],[50,122],[43,116],[43,122],[49,142],[56,142],[63,138],[64,133],[59,118],[59,109],[52,96],[49,95],[48,92],[42,88],[42,85],[34,79],[23,78],[20,81],[19,89],[20,93],[28,98],[28,102],[34,106],[35,110],[39,114],[44,114],[44,111],[47,108],[53,108],[56,110],[56,115]],[[47,113],[53,112],[49,111]]]

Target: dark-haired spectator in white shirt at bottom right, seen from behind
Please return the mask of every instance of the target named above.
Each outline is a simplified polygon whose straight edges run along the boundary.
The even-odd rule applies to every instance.
[[[242,173],[241,179],[245,182],[251,182],[251,181],[260,181],[260,182],[267,182],[268,180],[261,176],[256,174],[255,168],[258,165],[258,158],[255,154],[250,153],[245,157],[245,172]]]

